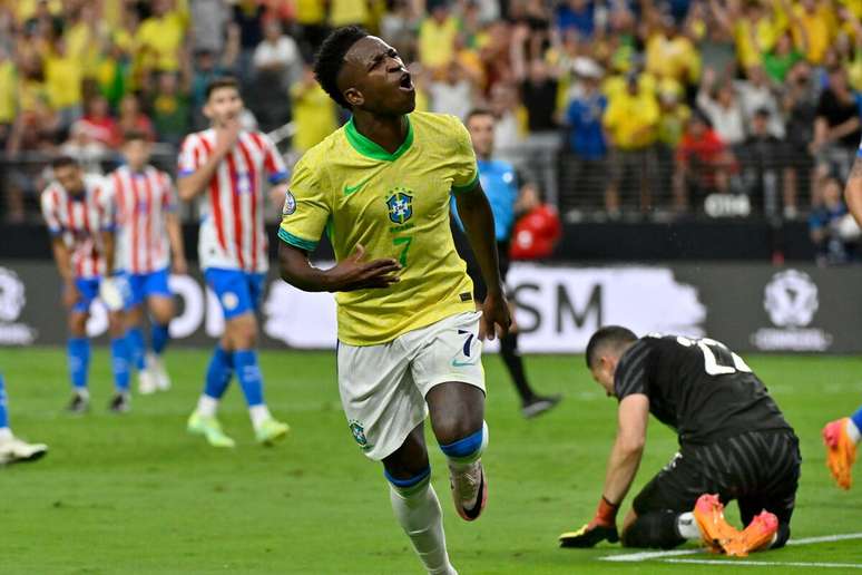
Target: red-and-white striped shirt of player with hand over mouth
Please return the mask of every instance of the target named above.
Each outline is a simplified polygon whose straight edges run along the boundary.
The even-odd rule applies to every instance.
[[[179,177],[206,164],[215,146],[214,129],[189,134],[179,152]],[[272,184],[286,179],[282,156],[264,134],[242,131],[202,194],[197,248],[204,270],[265,272],[268,269],[264,174]]]

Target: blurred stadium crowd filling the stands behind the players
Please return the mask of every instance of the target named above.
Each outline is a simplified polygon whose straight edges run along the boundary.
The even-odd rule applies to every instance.
[[[98,172],[135,129],[170,167],[219,75],[249,124],[291,123],[297,157],[345,119],[313,55],[359,23],[411,62],[418,109],[492,109],[497,156],[569,221],[820,225],[860,140],[860,19],[859,0],[0,0],[4,216],[35,206],[40,154]]]

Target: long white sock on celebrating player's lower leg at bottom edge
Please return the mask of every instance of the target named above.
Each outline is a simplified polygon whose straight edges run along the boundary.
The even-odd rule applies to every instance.
[[[395,486],[389,486],[392,510],[404,529],[425,569],[431,575],[458,575],[449,563],[443,533],[443,511],[431,484],[424,489],[404,495]]]

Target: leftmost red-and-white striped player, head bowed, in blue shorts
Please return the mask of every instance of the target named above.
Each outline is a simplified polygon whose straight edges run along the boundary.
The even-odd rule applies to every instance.
[[[108,308],[111,367],[117,389],[109,409],[128,411],[129,350],[123,314],[124,290],[120,279],[114,276],[114,199],[105,181],[85,176],[71,157],[60,156],[51,166],[55,181],[42,192],[41,204],[51,234],[53,259],[63,282],[62,301],[69,309],[69,374],[74,389],[69,411],[82,413],[89,407],[87,319],[97,295]]]

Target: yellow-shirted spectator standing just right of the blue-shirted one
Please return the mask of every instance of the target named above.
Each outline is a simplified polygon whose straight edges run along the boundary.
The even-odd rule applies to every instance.
[[[626,89],[610,95],[603,124],[610,143],[610,182],[605,189],[608,215],[618,217],[619,187],[628,174],[639,183],[640,212],[652,207],[658,165],[656,138],[660,113],[655,94],[640,89],[637,74],[626,76]]]

